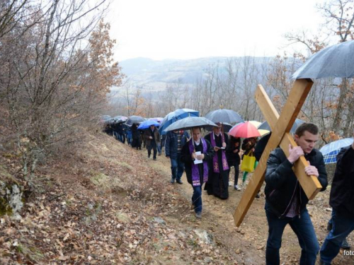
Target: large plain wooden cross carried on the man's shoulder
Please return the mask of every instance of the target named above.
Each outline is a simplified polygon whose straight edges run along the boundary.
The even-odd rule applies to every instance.
[[[244,216],[246,216],[247,211],[249,211],[249,207],[251,206],[254,197],[262,187],[270,152],[280,146],[285,155],[288,156],[289,143],[292,147],[297,146],[289,132],[307,98],[309,90],[311,90],[312,84],[313,82],[311,79],[297,79],[294,86],[292,86],[289,98],[287,99],[280,116],[277,110],[275,110],[267,93],[265,93],[264,88],[261,85],[257,86],[256,101],[265,120],[268,122],[270,129],[272,130],[272,135],[270,136],[267,146],[265,146],[261,160],[259,161],[256,170],[253,172],[253,176],[247,185],[246,191],[234,212],[234,222],[237,227],[241,225]],[[307,167],[307,165],[309,165],[309,163],[302,155],[302,157],[300,157],[295,163],[293,170],[307,197],[309,199],[314,199],[314,196],[316,196],[322,187],[317,177],[309,177],[306,175],[304,167]]]

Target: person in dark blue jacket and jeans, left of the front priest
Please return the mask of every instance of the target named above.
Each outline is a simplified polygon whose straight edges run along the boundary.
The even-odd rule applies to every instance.
[[[188,138],[186,131],[168,131],[166,134],[165,155],[171,160],[171,183],[176,181],[178,184],[183,184],[181,177],[184,164],[181,160],[181,151]]]

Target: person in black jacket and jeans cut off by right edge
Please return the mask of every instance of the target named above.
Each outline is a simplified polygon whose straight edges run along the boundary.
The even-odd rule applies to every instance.
[[[343,240],[354,230],[354,143],[337,155],[329,204],[333,208],[332,229],[321,247],[321,264],[331,264]]]

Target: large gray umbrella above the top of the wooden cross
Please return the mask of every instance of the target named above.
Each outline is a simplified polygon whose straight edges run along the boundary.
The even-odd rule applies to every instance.
[[[354,40],[321,49],[292,78],[354,77]]]

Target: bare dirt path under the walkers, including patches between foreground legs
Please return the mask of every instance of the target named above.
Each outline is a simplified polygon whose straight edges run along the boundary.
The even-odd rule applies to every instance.
[[[157,157],[154,161],[152,158],[147,158],[147,151],[139,151],[147,164],[154,169],[161,172],[161,175],[166,176],[166,184],[171,185],[183,199],[190,201],[193,193],[192,187],[188,184],[183,173],[183,184],[171,184],[171,168],[170,160],[167,159],[164,154]],[[231,173],[233,175],[233,172]],[[251,176],[249,176],[251,177]],[[212,232],[217,238],[217,243],[222,244],[229,248],[230,252],[236,254],[236,260],[240,264],[265,264],[265,245],[268,237],[268,225],[264,213],[265,197],[261,192],[261,198],[255,199],[253,204],[247,213],[244,223],[240,228],[236,228],[234,225],[234,219],[232,214],[239,203],[245,187],[240,192],[229,187],[229,199],[220,200],[215,196],[208,196],[205,191],[202,192],[203,203],[203,215],[202,220],[195,220],[193,210],[185,209],[185,211],[178,213],[177,218],[180,220],[187,220],[185,225],[191,223],[195,225],[195,228],[202,228]],[[314,201],[310,202],[309,209],[310,216],[319,238],[320,245],[324,241],[327,235],[326,223],[330,218],[330,211],[326,211],[329,208],[330,188],[318,196]],[[262,188],[263,191],[263,188]],[[172,218],[173,221],[173,218]],[[301,249],[297,241],[297,237],[291,228],[287,226],[282,237],[282,248],[280,249],[280,259],[282,264],[298,264]],[[349,237],[351,245],[353,245],[353,237]],[[354,264],[353,257],[343,256],[341,251],[338,257],[333,261],[333,264]]]

